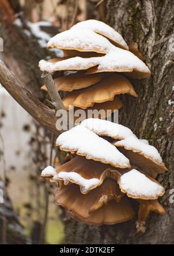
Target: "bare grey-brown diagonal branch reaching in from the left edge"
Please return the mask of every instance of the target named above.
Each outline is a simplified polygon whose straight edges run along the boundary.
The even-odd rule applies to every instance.
[[[56,129],[57,118],[55,111],[50,110],[34,95],[21,86],[19,80],[15,78],[6,65],[0,61],[0,83],[9,92],[9,94],[23,107],[35,120],[37,120],[46,129],[59,135],[61,131]]]

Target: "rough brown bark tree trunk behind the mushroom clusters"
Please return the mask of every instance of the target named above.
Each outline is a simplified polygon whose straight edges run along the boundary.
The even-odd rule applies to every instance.
[[[139,45],[139,50],[151,69],[150,79],[132,80],[139,97],[135,99],[124,95],[119,122],[131,128],[140,138],[148,139],[160,151],[169,170],[158,178],[166,189],[161,204],[167,214],[160,216],[150,213],[147,232],[144,234],[136,233],[137,216],[126,223],[102,227],[69,219],[66,222],[67,244],[174,243],[174,205],[169,202],[169,190],[174,188],[173,18],[173,1],[107,1],[108,24],[119,31],[128,44],[136,42]]]

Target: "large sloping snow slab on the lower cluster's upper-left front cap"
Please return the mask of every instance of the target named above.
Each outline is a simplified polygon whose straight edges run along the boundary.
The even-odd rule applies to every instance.
[[[131,167],[129,159],[117,148],[82,125],[63,132],[57,138],[56,145],[64,151],[76,151],[77,155],[85,156],[86,159],[108,163],[119,168]]]

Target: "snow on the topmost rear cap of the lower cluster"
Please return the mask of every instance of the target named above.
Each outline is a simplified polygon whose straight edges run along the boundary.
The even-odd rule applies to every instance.
[[[90,131],[96,134],[110,136],[114,139],[125,139],[127,136],[133,134],[131,129],[125,127],[121,124],[115,124],[107,120],[102,120],[99,118],[88,118],[81,122],[81,125],[88,128]]]

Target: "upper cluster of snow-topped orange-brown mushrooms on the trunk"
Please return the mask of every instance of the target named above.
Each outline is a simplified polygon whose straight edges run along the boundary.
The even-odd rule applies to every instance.
[[[98,20],[79,22],[57,34],[50,38],[48,48],[63,50],[64,57],[42,59],[41,71],[71,71],[55,79],[57,90],[66,92],[62,100],[67,110],[74,106],[75,110],[80,108],[85,112],[97,109],[113,113],[122,107],[118,94],[137,97],[126,76],[137,79],[150,76],[148,67],[135,55],[136,51],[135,54],[129,51],[121,34]],[[46,86],[42,89],[46,90]]]

